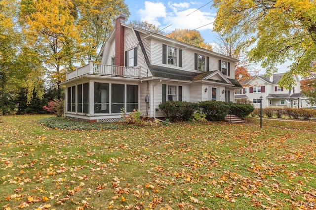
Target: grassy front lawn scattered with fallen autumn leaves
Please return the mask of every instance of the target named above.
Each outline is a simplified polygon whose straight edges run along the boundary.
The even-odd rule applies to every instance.
[[[47,117],[0,119],[4,210],[316,208],[316,122],[67,130]]]

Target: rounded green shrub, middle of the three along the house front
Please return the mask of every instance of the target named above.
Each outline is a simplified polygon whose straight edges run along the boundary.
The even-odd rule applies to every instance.
[[[223,120],[229,112],[230,105],[224,101],[202,101],[198,104],[201,113],[206,115],[206,120]]]

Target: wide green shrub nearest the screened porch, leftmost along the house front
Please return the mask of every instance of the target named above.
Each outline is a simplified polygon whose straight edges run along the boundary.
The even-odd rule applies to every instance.
[[[188,121],[197,110],[197,103],[185,101],[165,101],[159,109],[170,121]]]

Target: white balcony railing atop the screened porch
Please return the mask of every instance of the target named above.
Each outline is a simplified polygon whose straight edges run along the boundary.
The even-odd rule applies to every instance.
[[[104,65],[89,61],[89,64],[77,68],[74,71],[68,72],[67,80],[85,74],[104,75],[110,77],[139,78],[140,69],[116,65]]]

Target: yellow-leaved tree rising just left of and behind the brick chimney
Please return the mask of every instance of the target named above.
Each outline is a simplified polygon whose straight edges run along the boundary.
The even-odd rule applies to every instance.
[[[123,0],[74,0],[79,12],[78,25],[86,52],[86,59],[96,57],[96,50],[101,47],[113,30],[119,14],[129,16]]]

